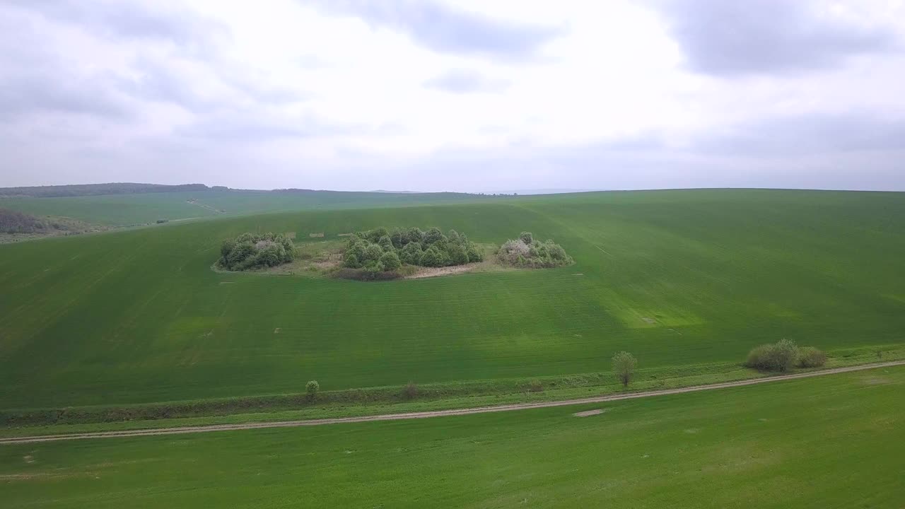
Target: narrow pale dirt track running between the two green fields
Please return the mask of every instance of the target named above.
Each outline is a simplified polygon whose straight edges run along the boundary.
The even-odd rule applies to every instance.
[[[484,414],[489,412],[505,412],[509,410],[523,410],[528,408],[565,407],[568,405],[582,405],[586,403],[604,403],[618,401],[620,399],[650,398],[652,396],[665,396],[680,394],[682,392],[697,392],[699,390],[725,389],[729,387],[741,387],[788,379],[806,379],[834,373],[846,373],[849,371],[874,370],[888,368],[890,366],[905,365],[905,360],[879,362],[875,364],[862,364],[861,366],[848,366],[845,368],[833,368],[830,370],[809,371],[792,375],[777,375],[762,379],[746,379],[733,382],[715,383],[710,385],[698,385],[679,389],[650,390],[646,392],[633,392],[629,394],[613,394],[608,396],[596,396],[583,399],[564,399],[561,401],[543,401],[538,403],[519,403],[516,405],[500,405],[498,407],[458,408],[452,410],[436,410],[433,412],[411,412],[405,414],[385,414],[378,416],[364,416],[357,418],[319,418],[308,420],[289,420],[276,422],[252,422],[247,424],[214,424],[210,426],[189,427],[162,427],[158,429],[132,429],[127,431],[98,431],[95,433],[72,433],[70,435],[44,435],[38,437],[8,437],[0,438],[3,444],[30,444],[34,442],[52,442],[56,440],[75,440],[79,438],[112,438],[112,437],[144,437],[146,435],[178,435],[184,433],[205,433],[210,431],[230,431],[237,429],[259,429],[263,427],[300,427],[320,426],[325,424],[342,424],[348,422],[370,422],[377,420],[401,420],[411,418],[438,418],[444,416],[464,416],[470,414]]]

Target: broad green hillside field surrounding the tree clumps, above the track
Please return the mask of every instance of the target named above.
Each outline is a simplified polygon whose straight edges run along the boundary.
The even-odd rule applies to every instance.
[[[576,264],[361,283],[210,270],[243,231],[529,230]],[[0,408],[743,360],[905,342],[905,195],[592,193],[309,211],[0,245]],[[279,329],[279,331],[278,331]]]

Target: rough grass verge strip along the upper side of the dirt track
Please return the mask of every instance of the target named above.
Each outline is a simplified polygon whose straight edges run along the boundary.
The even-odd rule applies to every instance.
[[[905,360],[905,348],[876,347],[830,352],[826,368],[862,365],[877,360]],[[813,369],[794,369],[801,373]],[[86,431],[201,426],[312,418],[357,417],[413,411],[476,408],[675,389],[742,379],[769,378],[736,363],[699,364],[637,370],[631,387],[623,388],[611,372],[535,379],[493,379],[418,386],[407,385],[246,398],[199,399],[145,405],[0,410],[0,437],[58,435]]]

